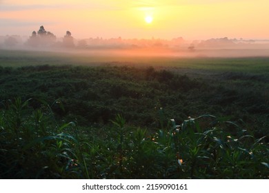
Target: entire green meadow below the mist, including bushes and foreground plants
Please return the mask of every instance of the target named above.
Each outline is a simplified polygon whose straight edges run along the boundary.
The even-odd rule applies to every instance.
[[[0,50],[0,90],[1,179],[269,176],[268,57]]]

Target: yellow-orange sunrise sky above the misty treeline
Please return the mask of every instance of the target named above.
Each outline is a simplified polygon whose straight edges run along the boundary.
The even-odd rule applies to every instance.
[[[268,10],[268,0],[0,0],[0,35],[269,39]]]

